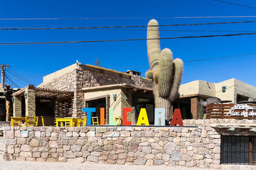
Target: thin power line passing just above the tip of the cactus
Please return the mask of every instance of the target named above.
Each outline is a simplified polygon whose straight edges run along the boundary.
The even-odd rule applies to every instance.
[[[0,20],[115,20],[115,19],[172,19],[172,18],[255,18],[256,16],[199,16],[199,17],[98,17],[98,18],[0,18]]]

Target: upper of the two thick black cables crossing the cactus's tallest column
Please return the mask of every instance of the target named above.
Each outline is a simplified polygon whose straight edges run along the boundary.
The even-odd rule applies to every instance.
[[[131,25],[131,26],[104,26],[104,27],[29,27],[29,28],[1,28],[0,30],[44,30],[44,29],[106,29],[106,28],[134,28],[134,27],[170,27],[170,26],[188,26],[188,25],[215,25],[215,24],[241,24],[254,23],[255,20],[237,21],[237,22],[212,22],[196,24],[168,24],[168,25]]]

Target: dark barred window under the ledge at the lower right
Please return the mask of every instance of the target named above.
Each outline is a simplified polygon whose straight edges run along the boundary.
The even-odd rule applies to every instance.
[[[256,136],[221,136],[221,164],[256,164]]]

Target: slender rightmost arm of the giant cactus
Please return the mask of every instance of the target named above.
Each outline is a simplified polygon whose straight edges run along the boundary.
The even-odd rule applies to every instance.
[[[177,97],[180,81],[183,72],[183,62],[180,59],[173,60],[173,81],[172,81],[172,89],[170,91],[169,100],[174,101],[175,97]]]

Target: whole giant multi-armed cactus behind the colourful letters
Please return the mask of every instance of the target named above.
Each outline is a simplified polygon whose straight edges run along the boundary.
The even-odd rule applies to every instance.
[[[156,20],[150,20],[147,28],[147,50],[150,70],[146,76],[154,81],[154,98],[156,108],[165,108],[165,119],[170,119],[171,102],[178,94],[183,71],[180,59],[172,60],[168,48],[160,49],[159,30]]]

